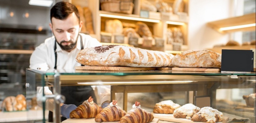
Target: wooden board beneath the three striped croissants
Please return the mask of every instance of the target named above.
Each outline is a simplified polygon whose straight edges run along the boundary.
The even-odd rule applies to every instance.
[[[159,119],[158,118],[154,118],[151,122],[149,123],[158,123]],[[62,123],[97,123],[94,121],[94,118],[88,118],[88,119],[76,119],[76,118],[72,118],[72,119],[67,119],[65,121],[62,121]],[[116,122],[102,122],[102,123],[119,123],[119,121]]]

